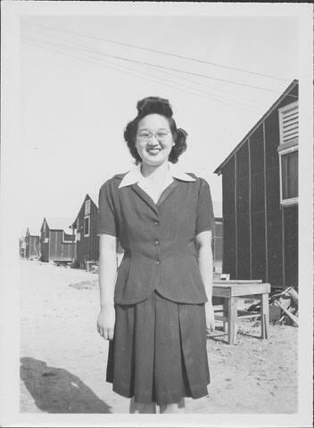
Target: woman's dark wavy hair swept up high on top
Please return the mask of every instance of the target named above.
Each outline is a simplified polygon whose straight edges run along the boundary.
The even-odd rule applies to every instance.
[[[136,164],[142,161],[142,158],[136,150],[136,132],[138,122],[145,118],[148,114],[160,114],[169,121],[169,128],[173,137],[175,145],[172,147],[169,153],[169,161],[172,163],[178,162],[178,157],[186,151],[186,136],[187,133],[184,129],[177,128],[175,120],[172,118],[172,109],[169,101],[160,98],[159,96],[147,96],[143,100],[140,100],[137,105],[137,116],[135,119],[128,122],[128,125],[124,131],[124,139],[128,144],[128,149],[136,160]]]

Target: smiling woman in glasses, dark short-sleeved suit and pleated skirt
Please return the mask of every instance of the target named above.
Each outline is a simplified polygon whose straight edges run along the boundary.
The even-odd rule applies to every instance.
[[[98,332],[111,341],[107,382],[131,413],[184,411],[207,395],[211,305],[210,187],[175,167],[186,150],[168,100],[147,97],[125,130],[136,168],[99,193]],[[116,279],[116,248],[125,250]]]

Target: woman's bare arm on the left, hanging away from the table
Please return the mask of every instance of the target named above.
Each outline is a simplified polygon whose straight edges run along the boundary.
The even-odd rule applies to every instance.
[[[103,339],[112,340],[115,324],[114,285],[117,275],[117,238],[100,235],[99,238],[99,290],[100,313],[97,330]]]

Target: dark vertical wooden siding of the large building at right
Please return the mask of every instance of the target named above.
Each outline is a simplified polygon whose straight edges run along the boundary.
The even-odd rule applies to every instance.
[[[280,204],[277,152],[278,109],[297,95],[294,86],[222,164],[223,272],[231,279],[297,285],[297,205]]]

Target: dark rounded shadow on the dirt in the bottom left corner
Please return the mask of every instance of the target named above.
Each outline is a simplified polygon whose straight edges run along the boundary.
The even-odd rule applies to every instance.
[[[21,380],[47,413],[112,413],[78,376],[36,358],[21,358]]]

